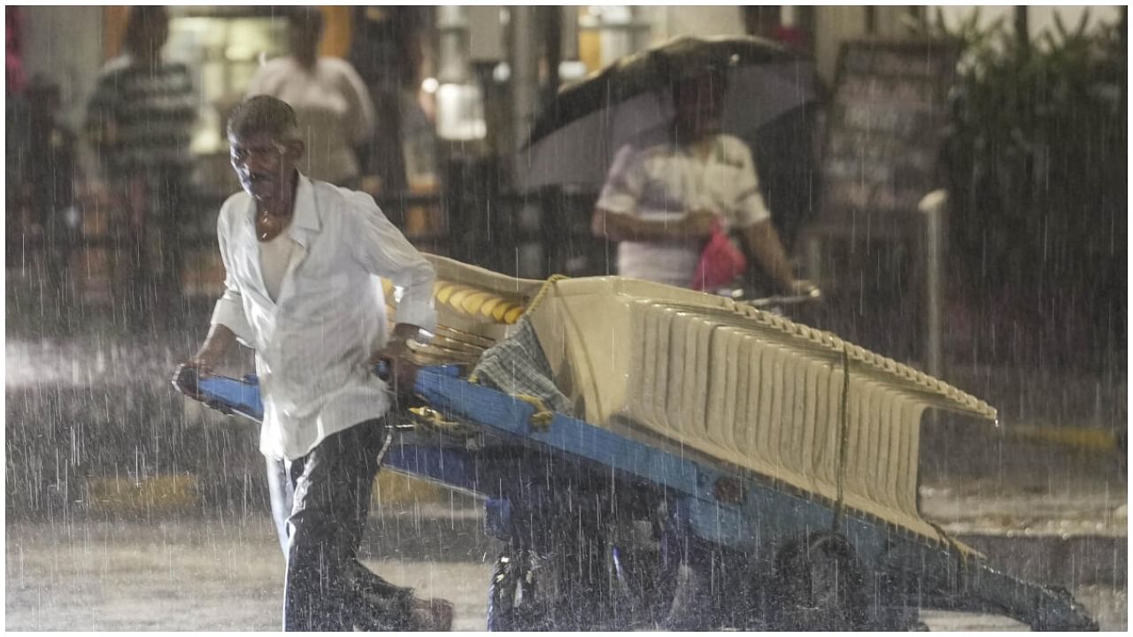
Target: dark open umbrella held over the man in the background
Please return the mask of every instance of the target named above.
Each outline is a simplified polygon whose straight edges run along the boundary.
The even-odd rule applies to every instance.
[[[521,148],[521,189],[577,185],[597,189],[624,144],[668,135],[671,87],[708,68],[725,70],[724,133],[748,135],[815,100],[813,62],[758,37],[678,37],[622,58],[564,86]]]

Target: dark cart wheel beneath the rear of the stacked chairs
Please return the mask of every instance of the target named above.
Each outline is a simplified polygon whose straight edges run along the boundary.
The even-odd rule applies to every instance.
[[[860,630],[866,622],[861,574],[850,542],[816,533],[786,546],[776,564],[780,630]]]

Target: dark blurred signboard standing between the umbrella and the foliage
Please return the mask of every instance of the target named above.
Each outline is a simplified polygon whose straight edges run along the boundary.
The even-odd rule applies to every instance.
[[[828,109],[821,209],[802,232],[807,277],[827,291],[823,328],[901,360],[926,362],[927,218],[945,186],[955,49],[942,42],[843,45]],[[943,213],[942,213],[943,214]]]

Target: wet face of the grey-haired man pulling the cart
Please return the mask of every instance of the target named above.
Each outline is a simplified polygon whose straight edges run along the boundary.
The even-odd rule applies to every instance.
[[[282,143],[267,133],[228,137],[232,169],[244,190],[256,201],[287,198],[295,184],[295,168],[303,144]]]

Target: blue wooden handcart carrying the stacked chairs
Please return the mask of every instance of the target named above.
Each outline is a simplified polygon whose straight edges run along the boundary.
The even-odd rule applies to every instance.
[[[174,387],[263,414],[254,376]],[[503,540],[491,630],[878,629],[921,608],[995,612],[1034,629],[1096,622],[1064,591],[999,572],[951,542],[680,449],[651,445],[424,367],[433,419],[398,427],[383,467],[486,498]]]

